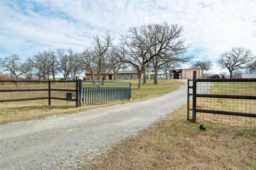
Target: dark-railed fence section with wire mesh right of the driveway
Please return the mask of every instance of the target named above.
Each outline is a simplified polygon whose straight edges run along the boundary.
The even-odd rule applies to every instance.
[[[256,129],[256,79],[194,79],[189,82],[189,120]]]

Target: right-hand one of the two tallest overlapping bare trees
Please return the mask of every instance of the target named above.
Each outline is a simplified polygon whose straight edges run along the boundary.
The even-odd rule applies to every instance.
[[[154,67],[155,76],[154,84],[158,83],[158,70],[169,62],[186,63],[190,57],[183,56],[187,47],[184,45],[185,40],[180,39],[183,31],[182,27],[177,24],[168,25],[166,22],[162,24],[153,24],[153,32],[149,33],[150,39],[156,42],[156,45],[150,49],[151,63]]]

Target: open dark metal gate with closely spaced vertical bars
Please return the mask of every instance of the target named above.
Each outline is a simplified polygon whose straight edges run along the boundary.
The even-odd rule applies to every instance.
[[[81,81],[81,82],[82,83],[79,85],[79,89],[81,90],[81,94],[79,94],[79,99],[80,99],[79,103],[81,106],[131,99],[131,82],[115,82],[115,81]],[[86,85],[85,83],[90,83],[90,84]],[[101,84],[103,83],[103,84],[99,86],[100,83]],[[117,84],[118,84],[118,87],[116,87]],[[120,86],[120,84],[124,84],[126,86]],[[95,87],[88,87],[89,85],[95,86]],[[105,87],[105,86],[110,86],[110,87]]]

